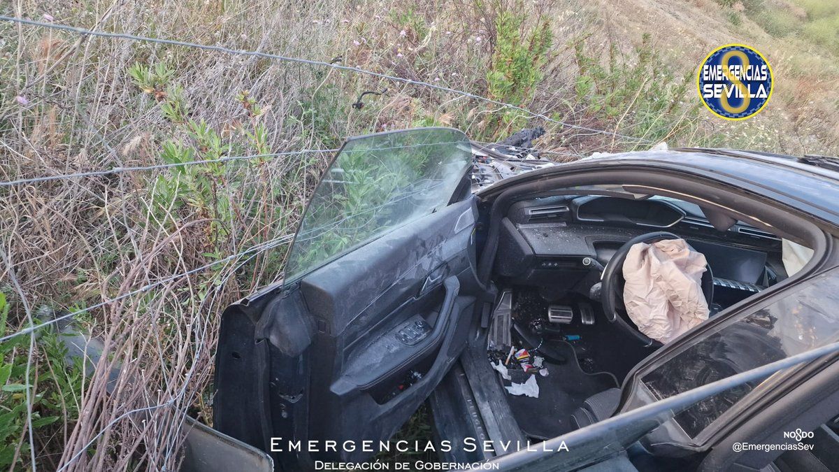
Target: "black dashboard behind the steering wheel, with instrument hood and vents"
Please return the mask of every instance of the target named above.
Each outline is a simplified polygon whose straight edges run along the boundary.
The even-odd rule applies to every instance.
[[[607,265],[612,254],[643,233],[670,231],[705,254],[715,286],[755,292],[786,274],[781,240],[737,222],[719,231],[701,208],[666,197],[555,196],[517,202],[502,222],[496,270],[518,283],[544,285],[555,271],[579,272],[586,258]]]

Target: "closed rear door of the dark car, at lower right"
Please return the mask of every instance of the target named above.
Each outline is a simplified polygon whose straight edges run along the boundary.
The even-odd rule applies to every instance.
[[[831,267],[709,320],[679,342],[666,345],[645,359],[630,373],[625,380],[625,401],[620,411],[627,412],[714,380],[836,343],[839,340],[837,289],[839,268]],[[801,385],[804,379],[826,371],[834,360],[800,365],[708,397],[675,415],[642,443],[648,451],[663,457],[710,450],[703,467],[729,469],[734,461],[741,459],[736,456],[749,452],[732,448],[733,438],[737,438],[737,443],[782,443],[782,428],[811,431],[830,419],[836,406],[820,406],[816,409],[820,416],[816,418],[805,414],[817,400],[821,401],[822,393],[821,387]],[[834,393],[836,377],[828,376],[827,384],[830,385],[827,390]],[[789,400],[796,396],[800,398]],[[839,396],[831,401],[839,402]],[[815,424],[810,424],[813,421]],[[776,437],[772,438],[772,434]],[[780,454],[780,449],[774,451],[775,455]],[[763,454],[759,459],[748,458],[764,459]],[[757,469],[770,461],[766,460]]]

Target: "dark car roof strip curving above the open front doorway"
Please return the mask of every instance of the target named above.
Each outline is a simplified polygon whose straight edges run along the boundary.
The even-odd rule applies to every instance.
[[[817,156],[820,157],[821,156]],[[839,171],[782,155],[732,149],[649,149],[619,154],[592,155],[581,160],[533,170],[477,191],[477,196],[492,198],[519,182],[532,181],[575,168],[634,167],[678,170],[682,173],[710,176],[718,181],[748,188],[775,201],[799,208],[839,226]]]

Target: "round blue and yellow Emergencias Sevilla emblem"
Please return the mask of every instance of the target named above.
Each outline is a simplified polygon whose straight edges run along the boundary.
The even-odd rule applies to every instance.
[[[706,108],[718,117],[751,118],[772,97],[772,68],[757,50],[724,45],[711,51],[699,67],[696,88]]]

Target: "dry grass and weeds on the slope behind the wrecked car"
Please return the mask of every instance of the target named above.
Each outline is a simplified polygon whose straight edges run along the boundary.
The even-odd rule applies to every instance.
[[[492,62],[499,57],[498,14],[518,8],[514,2],[489,4],[13,0],[0,5],[0,12],[314,60],[341,56],[342,64],[486,95],[487,70],[499,66]],[[691,8],[707,8],[697,4]],[[628,76],[638,63],[639,40],[616,33],[614,18],[604,21],[602,12],[574,0],[527,5],[531,14],[520,26],[522,37],[539,23],[537,13],[544,13],[552,46],[532,93],[516,104],[560,121],[671,144],[726,143],[727,136],[696,113],[691,89],[674,92],[673,105],[662,113],[648,107],[650,82],[638,85]],[[611,53],[610,42],[618,46]],[[582,59],[576,49],[581,44]],[[664,49],[656,40],[650,47]],[[581,60],[606,65],[610,57],[626,68],[602,77],[581,74]],[[165,89],[143,92],[128,74],[135,63],[166,64],[175,73]],[[683,69],[676,67],[666,80],[675,87]],[[583,79],[595,87],[581,95]],[[230,146],[222,153],[227,155],[329,149],[348,135],[430,124],[486,140],[541,124],[548,130],[542,144],[567,155],[637,147],[636,141],[347,71],[8,23],[0,23],[0,83],[3,181],[155,165],[166,141],[191,149],[194,159],[213,157],[185,123],[164,117],[167,98],[160,92],[177,87],[188,118],[204,120],[221,144]],[[604,84],[618,84],[623,94],[612,96]],[[800,81],[795,87],[816,86]],[[384,88],[386,95],[367,97],[361,110],[350,107],[361,92]],[[243,91],[259,113],[242,101]],[[835,128],[835,116],[828,118]],[[772,119],[784,129],[813,126],[800,114]],[[265,136],[254,139],[260,127]],[[758,131],[743,139],[775,149],[776,141],[759,139]],[[801,136],[821,143],[820,133],[821,128]],[[65,415],[58,427],[34,432],[37,464],[80,470],[177,467],[183,414],[211,422],[221,310],[279,277],[287,236],[329,157],[285,155],[198,165],[189,175],[144,170],[0,187],[0,247],[10,260],[0,272],[0,288],[12,305],[10,331],[28,326],[24,300],[33,310],[57,311],[116,300],[77,317],[103,339],[107,356],[78,392],[57,392],[62,401],[73,402],[79,417]],[[184,187],[165,197],[166,184],[173,181]],[[179,276],[188,271],[193,272]],[[152,284],[157,285],[135,293]],[[33,372],[49,365],[38,345]],[[107,373],[116,368],[122,374],[108,385]],[[49,382],[39,385],[36,393],[55,391]],[[19,444],[27,443],[24,433],[25,427]],[[17,456],[18,467],[29,463],[26,454]]]

